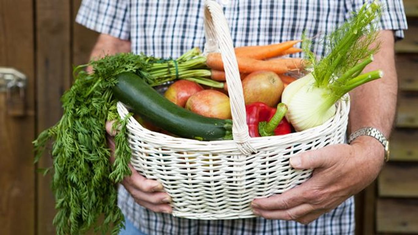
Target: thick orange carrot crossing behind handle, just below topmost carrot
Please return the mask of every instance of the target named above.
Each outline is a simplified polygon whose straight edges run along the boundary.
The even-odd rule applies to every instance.
[[[268,70],[277,74],[283,74],[291,70],[283,61],[263,61],[247,57],[237,57],[237,62],[240,73],[251,73],[260,70]],[[211,69],[224,70],[221,54],[216,52],[209,53],[206,56],[206,65]]]

